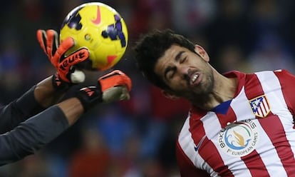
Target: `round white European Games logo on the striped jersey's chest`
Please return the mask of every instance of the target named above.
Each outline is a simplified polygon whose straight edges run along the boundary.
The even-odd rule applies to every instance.
[[[230,123],[219,132],[218,143],[229,156],[242,157],[257,147],[259,133],[252,120]]]

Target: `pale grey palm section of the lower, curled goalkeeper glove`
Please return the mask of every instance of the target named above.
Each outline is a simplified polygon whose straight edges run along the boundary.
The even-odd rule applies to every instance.
[[[103,92],[103,103],[130,99],[128,89],[125,86],[116,86]]]

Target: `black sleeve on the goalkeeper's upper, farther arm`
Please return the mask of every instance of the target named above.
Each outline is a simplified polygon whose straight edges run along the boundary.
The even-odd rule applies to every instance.
[[[33,95],[35,88],[33,86],[20,98],[0,108],[0,133],[11,131],[19,123],[43,111]]]

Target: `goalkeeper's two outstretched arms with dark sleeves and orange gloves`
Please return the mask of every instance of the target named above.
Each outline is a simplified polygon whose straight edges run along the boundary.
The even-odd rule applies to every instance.
[[[88,59],[88,50],[82,49],[65,57],[66,51],[75,45],[73,39],[68,38],[58,46],[57,33],[53,30],[38,30],[37,38],[56,67],[56,74],[0,109],[0,166],[35,153],[94,105],[125,100],[130,96],[130,78],[116,70],[100,77],[95,86],[80,89],[58,103],[73,85],[74,65]]]

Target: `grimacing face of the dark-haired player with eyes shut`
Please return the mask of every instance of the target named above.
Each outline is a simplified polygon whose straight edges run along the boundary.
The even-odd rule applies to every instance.
[[[196,47],[196,52],[200,56],[172,45],[157,61],[155,73],[170,86],[170,94],[191,99],[212,92],[214,80],[212,67],[207,63],[209,56],[201,47]]]

